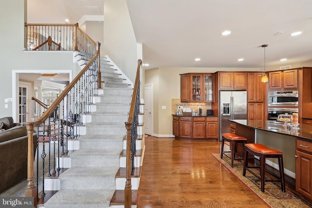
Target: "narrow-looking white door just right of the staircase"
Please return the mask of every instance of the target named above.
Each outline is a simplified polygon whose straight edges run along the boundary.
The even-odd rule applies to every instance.
[[[153,135],[153,84],[144,85],[144,133]]]

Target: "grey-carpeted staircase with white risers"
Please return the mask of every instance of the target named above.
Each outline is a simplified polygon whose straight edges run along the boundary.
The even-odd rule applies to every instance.
[[[128,119],[133,89],[116,69],[101,57],[102,94],[94,97],[91,113],[81,116],[85,125],[77,125],[78,139],[67,142],[69,153],[60,157],[59,176],[46,177],[45,189],[58,190],[44,208],[123,207],[125,187],[125,121]],[[141,114],[142,116],[142,114]],[[142,128],[139,126],[138,128]],[[142,134],[139,130],[138,134]],[[142,163],[141,142],[137,139],[133,196],[137,196]],[[61,171],[60,171],[61,172]],[[112,200],[113,198],[113,200]],[[133,207],[136,207],[134,205]]]

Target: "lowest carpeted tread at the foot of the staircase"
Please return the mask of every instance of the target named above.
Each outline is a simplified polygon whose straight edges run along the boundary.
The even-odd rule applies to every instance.
[[[108,208],[114,192],[115,189],[59,190],[44,208]]]

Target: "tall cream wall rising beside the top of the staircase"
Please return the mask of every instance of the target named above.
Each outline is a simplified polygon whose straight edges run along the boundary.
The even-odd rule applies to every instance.
[[[126,0],[104,1],[104,55],[132,81],[137,69],[137,40]]]

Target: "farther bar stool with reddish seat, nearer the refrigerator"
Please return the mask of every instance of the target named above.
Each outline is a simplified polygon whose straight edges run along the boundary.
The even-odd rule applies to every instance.
[[[232,151],[224,151],[224,141],[230,142],[231,150]],[[247,138],[238,136],[234,133],[222,133],[222,144],[221,144],[221,159],[223,158],[223,154],[231,159],[231,167],[233,168],[234,160],[238,160],[235,158],[235,144],[236,143],[243,143],[245,144],[247,141]],[[226,153],[231,152],[231,157],[227,155]]]

